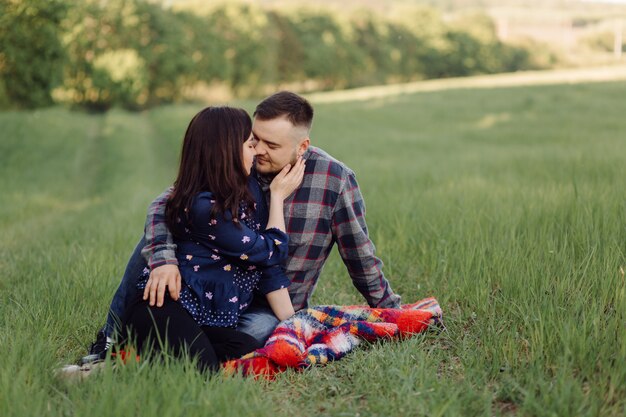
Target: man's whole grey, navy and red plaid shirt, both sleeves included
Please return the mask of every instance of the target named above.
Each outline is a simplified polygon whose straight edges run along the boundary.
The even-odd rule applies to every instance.
[[[317,280],[335,243],[352,283],[371,307],[399,307],[382,272],[367,234],[365,203],[354,172],[319,148],[304,154],[306,169],[300,188],[285,200],[285,226],[289,235],[289,257],[284,263],[291,280],[289,294],[294,309],[306,308]],[[271,179],[259,177],[269,196]],[[165,203],[169,190],[148,209],[147,246],[143,255],[150,268],[177,264],[176,245],[165,225]]]

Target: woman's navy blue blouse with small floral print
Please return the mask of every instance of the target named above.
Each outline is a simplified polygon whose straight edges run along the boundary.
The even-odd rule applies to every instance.
[[[230,212],[211,217],[215,200],[210,192],[194,197],[189,220],[181,216],[175,233],[183,279],[180,303],[201,326],[236,327],[255,289],[267,294],[289,286],[280,266],[288,237],[275,228],[261,231],[267,224],[263,194],[254,180],[250,191],[255,210],[248,214],[242,204],[236,222]],[[139,288],[145,288],[148,276],[144,272]]]

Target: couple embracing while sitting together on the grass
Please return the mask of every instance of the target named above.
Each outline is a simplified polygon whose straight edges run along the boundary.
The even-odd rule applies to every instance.
[[[400,307],[368,237],[354,173],[310,146],[312,119],[311,105],[291,92],[263,100],[254,122],[229,107],[194,116],[178,177],[151,204],[83,364],[130,337],[139,354],[165,343],[216,370],[307,307],[335,243],[371,307]]]

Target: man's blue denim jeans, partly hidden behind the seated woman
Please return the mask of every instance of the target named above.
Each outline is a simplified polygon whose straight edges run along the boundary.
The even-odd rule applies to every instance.
[[[111,301],[106,325],[102,330],[108,337],[113,339],[115,339],[115,333],[121,330],[121,323],[125,320],[128,308],[132,306],[139,296],[137,281],[139,281],[144,268],[148,267],[145,259],[141,256],[141,249],[145,245],[146,241],[142,237],[128,260],[122,282]],[[265,345],[265,341],[278,324],[278,319],[272,310],[269,306],[264,305],[262,301],[259,302],[257,300],[258,297],[260,296],[255,297],[250,307],[239,316],[239,325],[237,326],[237,330],[247,333],[257,340],[258,346],[256,348]]]

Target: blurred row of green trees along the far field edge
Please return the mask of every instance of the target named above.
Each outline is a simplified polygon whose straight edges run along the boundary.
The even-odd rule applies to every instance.
[[[326,90],[537,68],[484,15],[446,21],[266,10],[173,10],[143,0],[0,1],[0,105],[88,110],[179,102],[200,87],[240,97],[285,85]]]

